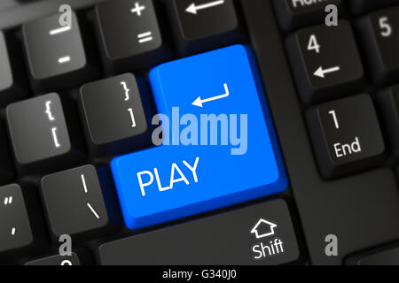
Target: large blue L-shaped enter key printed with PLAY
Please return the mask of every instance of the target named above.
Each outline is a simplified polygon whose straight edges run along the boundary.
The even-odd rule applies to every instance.
[[[251,51],[234,45],[150,72],[163,114],[153,122],[161,121],[163,143],[111,164],[126,226],[153,226],[286,189],[252,63]],[[158,136],[155,130],[153,137]]]

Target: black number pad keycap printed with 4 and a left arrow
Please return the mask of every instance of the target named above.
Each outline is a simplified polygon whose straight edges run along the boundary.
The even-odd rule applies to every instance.
[[[287,46],[303,102],[323,102],[363,86],[363,65],[347,21],[301,29]]]

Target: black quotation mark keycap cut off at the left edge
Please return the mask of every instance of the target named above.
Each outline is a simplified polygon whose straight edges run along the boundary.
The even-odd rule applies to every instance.
[[[0,187],[0,252],[27,247],[33,234],[20,186]]]

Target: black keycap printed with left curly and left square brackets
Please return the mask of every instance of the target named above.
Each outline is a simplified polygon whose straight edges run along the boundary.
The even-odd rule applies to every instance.
[[[68,133],[59,95],[36,96],[6,108],[17,166],[21,172],[57,170],[81,156]]]

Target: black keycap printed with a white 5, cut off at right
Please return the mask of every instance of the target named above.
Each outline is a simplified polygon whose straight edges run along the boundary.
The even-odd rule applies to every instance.
[[[397,81],[399,7],[373,12],[359,23],[358,29],[372,79],[377,84]]]

